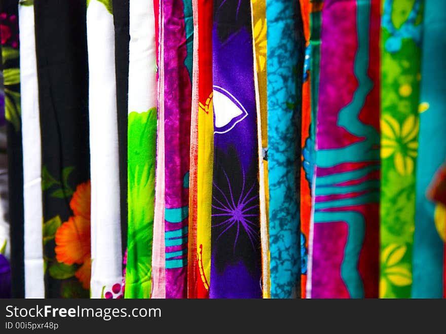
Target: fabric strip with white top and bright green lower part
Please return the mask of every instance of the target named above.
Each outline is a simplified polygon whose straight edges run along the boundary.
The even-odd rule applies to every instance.
[[[155,17],[151,2],[130,3],[129,53],[125,298],[150,298],[157,135]]]

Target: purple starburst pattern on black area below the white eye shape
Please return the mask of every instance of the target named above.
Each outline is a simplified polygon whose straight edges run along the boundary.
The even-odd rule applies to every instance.
[[[258,201],[255,201],[258,199],[258,194],[253,192],[256,184],[254,182],[249,189],[246,187],[245,172],[242,169],[243,183],[240,194],[238,195],[233,192],[228,174],[224,169],[222,171],[228,182],[229,193],[225,194],[225,192],[222,191],[215,182],[213,182],[217,196],[215,196],[214,192],[214,195],[212,196],[214,199],[212,208],[216,213],[213,213],[212,217],[218,217],[218,220],[226,218],[225,220],[218,221],[217,224],[212,225],[212,228],[218,228],[221,230],[216,240],[218,240],[225,233],[229,233],[229,231],[234,233],[234,230],[236,230],[234,253],[240,233],[246,233],[252,247],[255,249],[256,244],[259,242],[258,219],[254,219],[255,217],[258,218],[259,207]]]

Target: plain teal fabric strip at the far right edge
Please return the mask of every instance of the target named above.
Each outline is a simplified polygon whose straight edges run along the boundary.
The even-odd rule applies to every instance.
[[[428,198],[429,186],[446,159],[446,3],[425,0],[420,87],[420,133],[416,168],[416,208],[412,298],[443,297],[444,205]],[[443,238],[442,238],[443,237]]]

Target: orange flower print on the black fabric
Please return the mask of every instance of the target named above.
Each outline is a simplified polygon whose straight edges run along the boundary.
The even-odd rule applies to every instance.
[[[81,265],[75,276],[85,289],[90,288],[91,276],[90,184],[88,181],[78,185],[70,201],[74,215],[55,235],[57,261],[68,266]]]

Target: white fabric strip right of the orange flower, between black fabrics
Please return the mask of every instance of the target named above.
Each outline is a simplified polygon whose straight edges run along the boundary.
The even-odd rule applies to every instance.
[[[112,2],[87,8],[91,165],[91,297],[122,282],[115,28]],[[117,289],[116,289],[117,290]],[[121,297],[119,293],[117,297]]]

